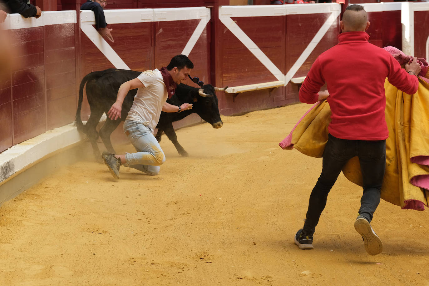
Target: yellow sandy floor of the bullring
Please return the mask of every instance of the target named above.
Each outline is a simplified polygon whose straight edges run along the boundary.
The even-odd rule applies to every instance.
[[[367,255],[353,228],[361,188],[341,174],[314,250],[299,250],[321,159],[278,146],[299,104],[163,135],[160,175],[76,163],[0,207],[0,285],[429,285],[429,212],[381,201]],[[117,147],[131,151],[131,145]]]

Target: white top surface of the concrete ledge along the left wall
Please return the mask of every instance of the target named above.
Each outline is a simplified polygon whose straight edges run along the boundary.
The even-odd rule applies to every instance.
[[[0,185],[47,155],[82,141],[73,123],[49,130],[3,151],[0,154]]]

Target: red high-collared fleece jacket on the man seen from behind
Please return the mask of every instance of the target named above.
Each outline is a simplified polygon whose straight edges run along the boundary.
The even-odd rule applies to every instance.
[[[388,137],[384,81],[405,93],[417,92],[418,79],[384,49],[368,43],[366,32],[338,35],[338,45],[323,52],[299,89],[299,100],[317,102],[326,82],[331,108],[329,133],[341,139],[384,140]]]

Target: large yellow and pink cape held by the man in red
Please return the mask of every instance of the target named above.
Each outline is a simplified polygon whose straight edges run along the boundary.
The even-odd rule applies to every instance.
[[[426,65],[424,76],[420,73],[419,88],[413,95],[398,90],[387,79],[384,83],[389,138],[386,139],[386,171],[381,198],[402,209],[424,210],[424,206],[428,206],[429,72],[426,61],[423,65]],[[328,141],[330,116],[328,102],[317,102],[279,143],[280,147],[295,148],[311,157],[322,157]],[[348,180],[362,186],[357,157],[350,159],[342,171]]]

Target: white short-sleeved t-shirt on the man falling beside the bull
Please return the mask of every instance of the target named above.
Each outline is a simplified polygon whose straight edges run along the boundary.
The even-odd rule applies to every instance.
[[[127,120],[147,126],[154,132],[161,115],[161,109],[168,98],[167,89],[158,69],[144,71],[137,77],[145,87],[139,87]]]

